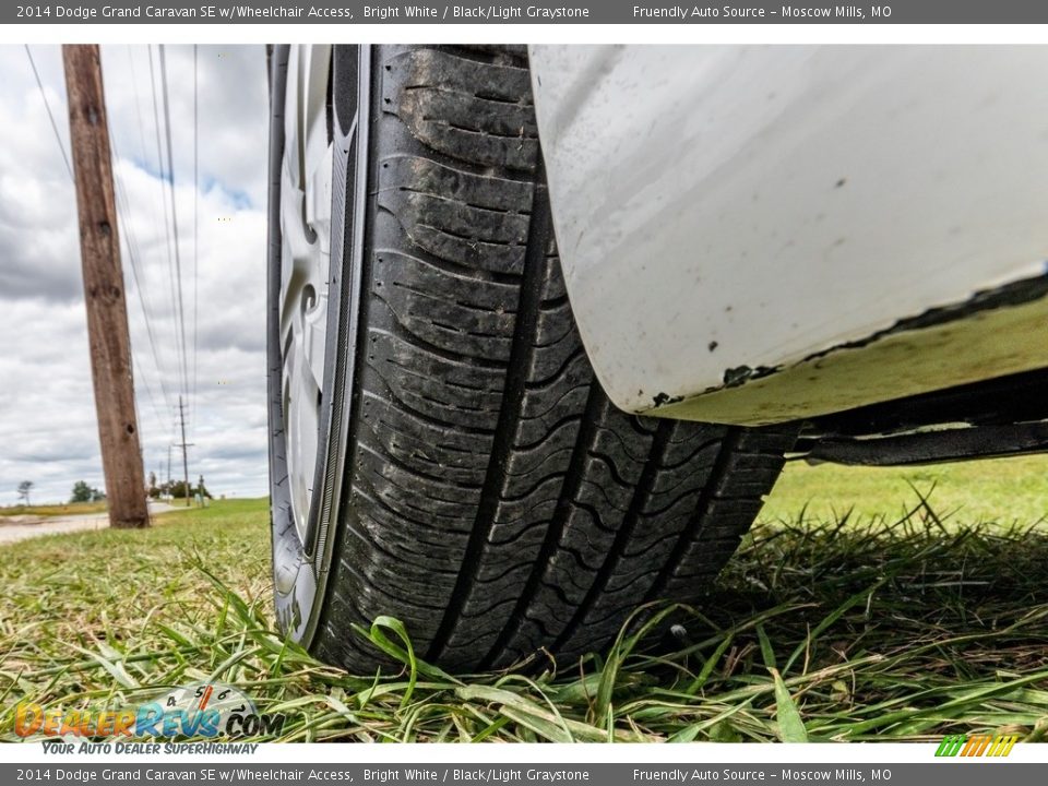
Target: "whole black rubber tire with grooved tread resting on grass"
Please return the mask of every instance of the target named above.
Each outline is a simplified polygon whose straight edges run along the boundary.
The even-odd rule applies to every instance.
[[[695,599],[755,517],[794,430],[638,418],[609,403],[564,290],[523,47],[336,48],[323,401],[315,464],[297,469],[314,480],[309,514],[295,510],[279,331],[288,57],[276,49],[271,73],[283,628],[365,671],[382,656],[353,626],[389,615],[420,656],[468,671],[539,648],[575,658],[643,602]],[[340,144],[347,79],[359,133]],[[284,204],[283,221],[297,221]]]

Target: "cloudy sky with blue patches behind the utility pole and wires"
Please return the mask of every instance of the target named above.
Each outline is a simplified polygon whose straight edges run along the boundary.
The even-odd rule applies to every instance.
[[[60,49],[33,46],[32,53],[68,151]],[[168,46],[166,58],[190,389],[194,367],[196,379],[187,434],[195,444],[190,476],[202,473],[216,496],[261,496],[266,491],[265,52],[262,47],[198,50],[199,189],[193,183],[193,48]],[[139,428],[146,474],[166,477],[168,445],[180,441],[174,408],[179,364],[150,50],[104,46],[103,67],[118,189],[129,206],[120,231],[133,237],[141,273],[135,286],[124,255]],[[156,48],[153,68],[163,123]],[[0,504],[16,501],[22,480],[33,481],[34,502],[60,501],[76,480],[104,487],[76,201],[24,47],[0,46]],[[172,474],[181,476],[178,462]]]

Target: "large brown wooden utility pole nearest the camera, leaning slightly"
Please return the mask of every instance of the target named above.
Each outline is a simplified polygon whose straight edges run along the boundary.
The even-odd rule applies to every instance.
[[[120,267],[117,209],[102,61],[94,45],[62,47],[80,214],[87,341],[95,384],[109,526],[148,526],[131,376],[131,337]]]

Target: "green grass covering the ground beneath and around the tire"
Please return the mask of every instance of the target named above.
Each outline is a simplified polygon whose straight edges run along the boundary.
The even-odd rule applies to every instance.
[[[14,738],[21,700],[126,706],[202,679],[286,714],[288,741],[1043,738],[1048,537],[1029,531],[1037,501],[1009,491],[1005,517],[944,523],[934,500],[952,485],[964,492],[953,469],[956,484],[940,481],[930,503],[886,472],[847,471],[854,486],[826,491],[836,476],[820,479],[825,471],[789,469],[701,611],[645,609],[607,652],[536,663],[526,677],[445,675],[394,620],[367,632],[392,655],[382,674],[347,675],[285,642],[264,501],[215,502],[145,532],[13,544],[0,548],[0,738]],[[853,507],[869,516],[859,526],[842,521]],[[903,508],[909,515],[885,517]],[[1009,529],[973,525],[1020,510]]]

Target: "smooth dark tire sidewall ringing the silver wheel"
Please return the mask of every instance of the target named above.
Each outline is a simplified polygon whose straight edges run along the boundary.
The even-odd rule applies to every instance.
[[[314,53],[315,55],[315,53]],[[367,47],[332,47],[329,80],[333,91],[343,82],[356,83],[354,106],[342,107],[332,99],[333,172],[331,255],[329,265],[327,329],[324,353],[323,406],[320,413],[318,457],[313,467],[315,489],[308,514],[308,532],[302,543],[295,525],[286,458],[282,377],[283,358],[279,335],[282,216],[281,186],[284,157],[284,107],[289,76],[290,47],[276,47],[271,64],[270,121],[270,205],[267,258],[267,392],[270,427],[270,500],[273,553],[273,584],[276,619],[293,640],[309,646],[320,624],[323,595],[332,546],[342,507],[342,479],[347,449],[346,425],[353,384],[353,357],[356,346],[356,320],[359,298],[359,261],[355,249],[360,245],[364,222],[358,204],[364,192],[362,179],[367,132],[355,122],[366,124],[366,103],[370,92],[362,85],[360,69],[369,57]],[[365,72],[367,73],[367,71]],[[343,115],[346,115],[343,117]],[[356,121],[355,121],[356,117]],[[354,182],[349,182],[350,164]],[[352,186],[352,188],[349,188]]]

